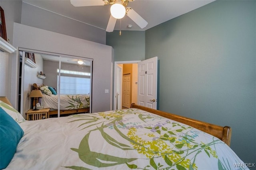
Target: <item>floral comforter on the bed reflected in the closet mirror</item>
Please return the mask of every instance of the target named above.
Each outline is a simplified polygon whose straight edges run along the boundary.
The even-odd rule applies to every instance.
[[[43,94],[41,105],[44,108],[58,109],[58,95]],[[61,94],[60,110],[83,109],[90,107],[89,94]]]

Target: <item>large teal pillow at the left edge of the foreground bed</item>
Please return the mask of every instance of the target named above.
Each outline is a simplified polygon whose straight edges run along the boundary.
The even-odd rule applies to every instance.
[[[23,135],[20,125],[0,107],[0,169],[11,162]]]

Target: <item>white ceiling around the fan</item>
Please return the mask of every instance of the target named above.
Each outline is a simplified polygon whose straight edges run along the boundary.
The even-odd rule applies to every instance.
[[[110,18],[110,5],[74,7],[70,3],[70,0],[22,1],[104,30]],[[144,29],[141,29],[128,16],[125,16],[121,19],[121,30],[147,30],[213,1],[214,0],[134,0],[133,2],[129,2],[127,7],[131,7],[135,10],[148,22],[148,25]],[[128,24],[133,25],[132,29],[127,27]],[[120,30],[120,20],[116,21],[114,30]]]

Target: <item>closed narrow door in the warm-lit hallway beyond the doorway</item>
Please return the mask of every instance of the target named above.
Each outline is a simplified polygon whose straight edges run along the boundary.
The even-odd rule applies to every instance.
[[[123,75],[123,107],[130,108],[131,101],[131,75]]]

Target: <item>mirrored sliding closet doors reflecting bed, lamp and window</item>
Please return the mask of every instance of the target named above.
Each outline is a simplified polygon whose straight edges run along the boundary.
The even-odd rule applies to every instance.
[[[20,112],[28,120],[90,113],[92,60],[20,49]]]

